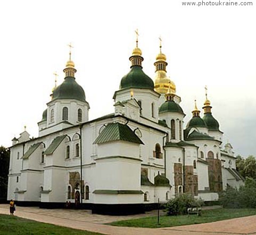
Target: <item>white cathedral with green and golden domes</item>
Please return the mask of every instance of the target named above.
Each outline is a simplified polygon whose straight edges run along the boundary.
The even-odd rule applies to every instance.
[[[43,208],[68,201],[93,213],[128,214],[182,193],[218,201],[227,186],[244,184],[207,93],[202,117],[195,101],[184,124],[161,43],[154,81],[142,69],[138,40],[129,60],[130,71],[113,94],[113,113],[89,120],[70,52],[64,80],[38,122],[38,137],[24,130],[12,140],[8,199]]]

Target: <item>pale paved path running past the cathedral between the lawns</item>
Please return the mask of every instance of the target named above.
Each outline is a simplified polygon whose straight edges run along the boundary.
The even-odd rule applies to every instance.
[[[9,214],[9,205],[0,204],[0,214]],[[127,220],[143,215],[108,216],[91,214],[85,210],[47,210],[38,207],[17,207],[16,216],[39,222],[56,224],[74,229],[88,230],[110,235],[237,235],[256,234],[256,215],[219,222],[185,225],[171,228],[147,229],[105,225],[117,220]]]

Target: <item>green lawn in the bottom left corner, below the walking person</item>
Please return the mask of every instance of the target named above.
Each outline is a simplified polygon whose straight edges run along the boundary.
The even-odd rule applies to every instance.
[[[49,234],[69,234],[69,235],[96,235],[101,233],[82,231],[65,228],[48,223],[40,223],[33,220],[22,219],[17,216],[0,214],[0,235],[49,235]]]

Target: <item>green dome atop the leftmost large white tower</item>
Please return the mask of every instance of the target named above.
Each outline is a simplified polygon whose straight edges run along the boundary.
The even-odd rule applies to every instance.
[[[65,77],[64,82],[53,91],[52,100],[56,99],[76,99],[85,101],[85,91],[76,82],[75,77]]]

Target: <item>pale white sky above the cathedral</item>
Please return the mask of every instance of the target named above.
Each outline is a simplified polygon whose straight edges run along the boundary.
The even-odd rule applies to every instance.
[[[250,1],[253,6],[202,7],[182,6],[181,0],[3,1],[0,145],[10,146],[24,125],[38,136],[54,71],[58,84],[64,79],[69,42],[76,81],[90,104],[89,119],[113,112],[113,93],[129,71],[138,28],[143,69],[153,80],[162,38],[185,123],[195,97],[203,106],[207,85],[224,142],[236,154],[256,156],[256,1]]]

